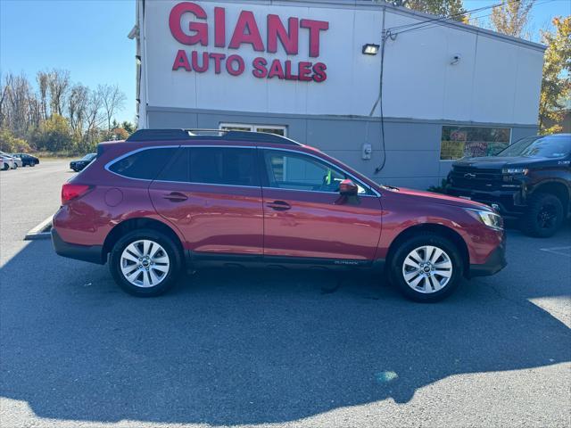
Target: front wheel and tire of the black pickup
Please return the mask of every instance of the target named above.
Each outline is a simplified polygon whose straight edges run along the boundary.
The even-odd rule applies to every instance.
[[[521,230],[525,235],[547,238],[563,223],[564,209],[559,198],[550,193],[534,193],[529,200]]]

